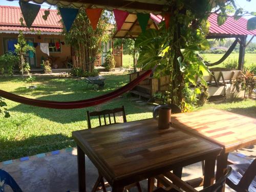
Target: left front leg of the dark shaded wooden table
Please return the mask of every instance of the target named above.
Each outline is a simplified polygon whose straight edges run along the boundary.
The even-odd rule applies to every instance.
[[[84,152],[77,145],[78,191],[86,192],[86,159]]]

